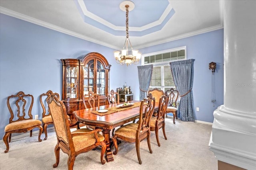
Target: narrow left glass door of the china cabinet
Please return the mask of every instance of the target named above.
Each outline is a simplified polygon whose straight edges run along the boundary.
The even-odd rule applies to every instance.
[[[66,67],[66,98],[77,98],[78,67]]]

